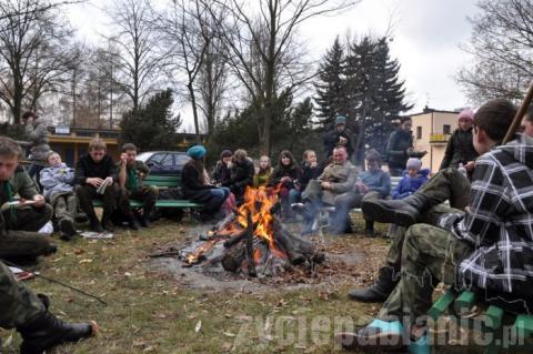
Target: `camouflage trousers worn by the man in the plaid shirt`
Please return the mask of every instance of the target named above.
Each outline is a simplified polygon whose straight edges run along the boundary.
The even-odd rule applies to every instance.
[[[415,224],[409,227],[402,249],[400,283],[389,295],[378,317],[383,321],[424,324],[435,286],[456,284],[456,267],[473,246],[450,231]]]

